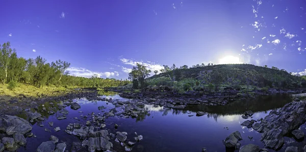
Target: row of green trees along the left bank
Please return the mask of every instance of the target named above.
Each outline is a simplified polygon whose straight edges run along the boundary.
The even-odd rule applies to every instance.
[[[130,82],[116,79],[102,79],[97,75],[92,78],[73,77],[66,69],[70,63],[58,60],[47,63],[38,56],[35,59],[18,57],[10,42],[0,44],[0,82],[18,82],[42,88],[46,85],[64,87],[112,87],[126,85]]]

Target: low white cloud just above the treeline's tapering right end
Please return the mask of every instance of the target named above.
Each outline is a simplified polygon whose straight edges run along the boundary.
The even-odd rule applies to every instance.
[[[114,72],[94,72],[82,67],[69,67],[66,71],[69,72],[70,75],[75,75],[77,77],[85,77],[85,78],[91,78],[95,74],[101,78],[101,77],[118,77],[119,73],[117,71]]]

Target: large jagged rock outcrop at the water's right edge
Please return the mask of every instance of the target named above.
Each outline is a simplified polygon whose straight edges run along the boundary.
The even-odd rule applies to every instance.
[[[260,123],[254,123],[253,129],[262,134],[265,146],[278,149],[284,144],[284,135],[299,128],[306,121],[306,101],[286,104],[278,111],[271,111]]]

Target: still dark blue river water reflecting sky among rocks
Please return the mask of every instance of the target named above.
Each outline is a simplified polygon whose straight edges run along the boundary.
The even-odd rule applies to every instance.
[[[121,98],[117,94],[104,95],[102,97],[129,100]],[[80,115],[88,115],[91,112],[103,115],[104,112],[99,111],[98,106],[107,107],[107,109],[104,109],[105,112],[115,108],[114,105],[107,104],[107,102],[88,101],[85,98],[74,99],[74,102],[79,103],[81,108],[72,110],[70,107],[66,107],[65,109],[69,111],[69,114],[66,115],[67,119],[58,120],[57,116],[60,115],[58,111],[54,115],[41,113],[46,119],[32,123],[32,132],[37,137],[27,138],[27,146],[20,147],[18,151],[36,151],[41,142],[49,140],[50,135],[58,137],[59,143],[65,142],[67,144],[66,150],[70,151],[71,143],[81,140],[65,132],[66,126],[69,123],[81,123],[85,125],[89,118],[85,120]],[[142,135],[143,140],[136,143],[132,151],[201,151],[203,147],[206,147],[209,151],[233,151],[225,149],[222,140],[235,131],[241,133],[243,138],[240,141],[241,145],[253,143],[263,148],[264,145],[260,141],[261,134],[240,125],[246,120],[241,115],[245,111],[251,110],[254,112],[252,119],[257,120],[264,118],[271,110],[281,108],[289,102],[291,100],[288,96],[274,95],[262,96],[256,99],[237,100],[226,106],[188,106],[184,110],[163,109],[162,107],[155,108],[152,105],[146,105],[147,111],[139,114],[137,118],[120,118],[117,116],[107,118],[105,122],[107,126],[105,129],[113,134],[117,131],[127,132],[127,139],[131,141],[134,141],[134,132]],[[48,105],[45,106],[48,108]],[[79,111],[83,113],[79,113]],[[196,111],[205,111],[209,114],[196,116]],[[188,115],[194,116],[189,117]],[[74,117],[78,117],[79,119],[74,119]],[[48,122],[50,121],[54,122],[53,126],[49,126]],[[119,125],[118,129],[114,129],[115,123]],[[44,126],[40,126],[40,124]],[[61,131],[54,131],[54,128],[57,126],[60,127]],[[51,133],[45,132],[45,128],[49,129]],[[306,132],[304,125],[301,126],[301,130]],[[249,139],[248,136],[253,138]],[[292,145],[301,147],[305,143],[305,141],[294,142],[295,140],[290,137],[286,137],[285,140],[284,146],[279,151],[285,151],[287,146]],[[114,143],[114,149],[116,151],[124,151],[124,147],[121,147],[117,143]]]

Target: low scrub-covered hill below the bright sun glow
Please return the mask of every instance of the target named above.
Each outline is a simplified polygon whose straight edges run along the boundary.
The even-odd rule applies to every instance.
[[[171,81],[172,79],[172,81]],[[210,89],[225,87],[246,88],[305,88],[306,80],[276,67],[261,67],[251,64],[222,64],[175,68],[147,79],[148,85],[168,85],[179,89]],[[176,85],[175,83],[176,82]]]

